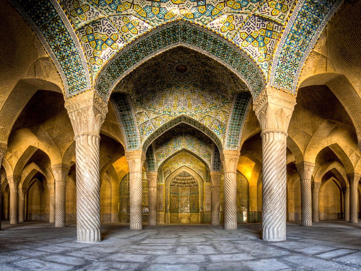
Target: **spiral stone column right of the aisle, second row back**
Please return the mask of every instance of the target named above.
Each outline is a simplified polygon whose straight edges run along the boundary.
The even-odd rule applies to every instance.
[[[223,151],[223,221],[225,229],[237,228],[237,164],[239,151]]]

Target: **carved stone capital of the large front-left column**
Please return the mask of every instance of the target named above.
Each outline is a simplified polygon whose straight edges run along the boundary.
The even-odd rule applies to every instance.
[[[107,103],[95,91],[86,91],[65,100],[75,138],[82,135],[99,137],[100,128],[108,113]]]

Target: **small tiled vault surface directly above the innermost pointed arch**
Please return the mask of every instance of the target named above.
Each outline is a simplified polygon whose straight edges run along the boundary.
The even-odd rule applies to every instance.
[[[182,123],[168,130],[158,137],[152,145],[155,149],[157,167],[160,167],[171,155],[183,149],[199,156],[210,167],[212,140],[188,124]]]

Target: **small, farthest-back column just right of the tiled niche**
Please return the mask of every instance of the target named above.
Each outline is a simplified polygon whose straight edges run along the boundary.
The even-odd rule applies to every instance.
[[[210,205],[211,224],[219,225],[219,183],[221,182],[221,172],[210,172]]]

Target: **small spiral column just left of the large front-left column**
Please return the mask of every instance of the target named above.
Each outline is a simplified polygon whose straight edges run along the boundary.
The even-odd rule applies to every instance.
[[[63,228],[65,227],[65,185],[69,168],[64,164],[55,164],[51,168],[55,180],[55,227]]]

